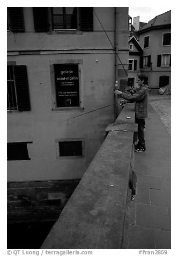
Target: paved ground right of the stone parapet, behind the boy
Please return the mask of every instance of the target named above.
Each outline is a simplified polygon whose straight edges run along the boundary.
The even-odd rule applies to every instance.
[[[157,102],[150,104],[145,122],[146,152],[135,153],[137,182],[135,200],[130,202],[128,212],[128,248],[168,249],[171,246],[170,96],[159,96],[151,99],[152,103]],[[161,118],[166,118],[167,124]]]

